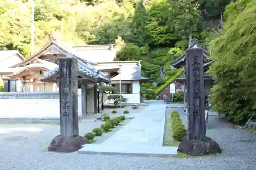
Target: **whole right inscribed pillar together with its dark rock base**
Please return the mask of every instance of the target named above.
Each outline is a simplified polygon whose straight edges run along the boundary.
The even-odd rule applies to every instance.
[[[220,153],[219,145],[205,136],[203,51],[193,48],[186,50],[185,55],[188,130],[178,151],[193,156]]]

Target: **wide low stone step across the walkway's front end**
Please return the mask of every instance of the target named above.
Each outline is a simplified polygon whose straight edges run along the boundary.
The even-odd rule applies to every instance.
[[[79,154],[131,155],[131,156],[178,156],[177,147],[151,147],[142,145],[123,146],[86,144]]]

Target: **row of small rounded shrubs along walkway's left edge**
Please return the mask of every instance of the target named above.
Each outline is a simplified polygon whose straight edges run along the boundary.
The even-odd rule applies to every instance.
[[[88,139],[90,143],[95,142],[95,136],[101,136],[102,133],[109,132],[111,128],[119,125],[121,121],[126,119],[126,117],[119,116],[110,118],[108,115],[104,115],[103,119],[106,121],[105,123],[101,124],[100,127],[94,128],[92,132],[88,132],[84,135],[84,137]]]

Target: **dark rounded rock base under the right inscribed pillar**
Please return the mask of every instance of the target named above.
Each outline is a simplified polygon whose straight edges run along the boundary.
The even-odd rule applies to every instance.
[[[205,136],[202,140],[188,140],[188,137],[185,136],[177,151],[190,156],[203,156],[221,153],[221,148],[209,137]]]

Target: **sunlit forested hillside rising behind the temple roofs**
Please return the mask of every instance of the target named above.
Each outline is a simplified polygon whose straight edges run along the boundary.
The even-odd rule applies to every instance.
[[[30,52],[31,2],[0,1],[0,50]],[[35,0],[35,46],[51,35],[70,45],[115,44],[118,60],[142,60],[147,98],[177,71],[189,36],[208,47],[230,0]],[[152,89],[152,90],[148,90]]]

